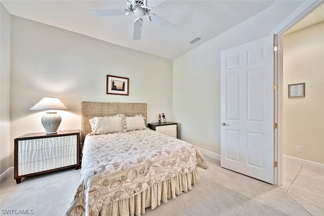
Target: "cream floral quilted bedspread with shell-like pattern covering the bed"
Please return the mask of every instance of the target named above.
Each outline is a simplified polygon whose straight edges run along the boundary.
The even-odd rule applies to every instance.
[[[66,215],[98,215],[108,203],[196,167],[209,168],[198,149],[151,129],[88,135],[80,185]]]

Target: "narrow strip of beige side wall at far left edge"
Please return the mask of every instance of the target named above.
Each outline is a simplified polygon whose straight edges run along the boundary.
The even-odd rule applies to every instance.
[[[11,166],[10,14],[0,3],[0,174]]]

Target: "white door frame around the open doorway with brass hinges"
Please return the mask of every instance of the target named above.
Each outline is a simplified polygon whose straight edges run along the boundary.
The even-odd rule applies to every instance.
[[[277,84],[277,91],[274,94],[274,122],[277,123],[277,130],[274,133],[274,160],[277,162],[277,167],[274,170],[274,184],[282,185],[282,155],[283,152],[283,45],[284,33],[324,4],[324,1],[305,1],[298,7],[289,17],[281,22],[272,32],[274,35],[274,44],[277,46],[277,52],[274,56],[274,82]]]

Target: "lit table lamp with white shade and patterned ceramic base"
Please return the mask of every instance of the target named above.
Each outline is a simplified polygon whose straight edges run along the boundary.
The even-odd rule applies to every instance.
[[[57,113],[58,109],[68,109],[58,98],[46,97],[36,103],[29,110],[49,110],[42,117],[42,124],[46,134],[56,134],[61,123],[61,116]]]

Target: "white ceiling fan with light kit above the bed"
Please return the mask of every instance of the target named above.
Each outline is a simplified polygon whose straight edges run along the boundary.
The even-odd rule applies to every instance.
[[[134,33],[133,39],[141,39],[142,34],[142,17],[146,16],[148,21],[152,22],[156,26],[170,32],[175,33],[178,29],[177,26],[171,24],[167,20],[150,13],[154,7],[163,3],[165,0],[126,0],[128,9],[111,9],[111,10],[94,10],[90,11],[93,16],[96,17],[107,17],[107,16],[121,16],[135,14],[137,18],[134,20]]]

